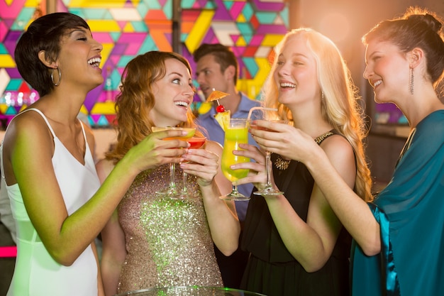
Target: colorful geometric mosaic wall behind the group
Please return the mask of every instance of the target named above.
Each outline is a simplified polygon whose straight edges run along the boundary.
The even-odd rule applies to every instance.
[[[50,1],[50,0],[48,0]],[[115,118],[113,97],[121,73],[135,55],[148,50],[172,50],[172,0],[52,0],[57,11],[69,11],[87,20],[94,38],[104,45],[104,86],[87,96],[82,112],[91,126],[109,126]],[[201,43],[230,46],[240,63],[238,88],[255,98],[270,70],[272,48],[288,28],[288,4],[282,0],[180,1],[181,53],[192,61]],[[11,118],[38,99],[13,61],[13,50],[40,1],[0,0],[0,121]],[[196,96],[196,106],[200,99]]]

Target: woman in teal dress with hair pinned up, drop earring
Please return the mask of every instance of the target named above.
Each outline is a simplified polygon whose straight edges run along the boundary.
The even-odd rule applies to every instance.
[[[363,41],[364,77],[375,101],[396,104],[411,127],[389,185],[366,203],[301,131],[267,144],[309,168],[353,236],[352,295],[444,295],[444,104],[438,96],[443,21],[410,8],[401,18],[379,23]],[[286,138],[297,145],[287,145]]]

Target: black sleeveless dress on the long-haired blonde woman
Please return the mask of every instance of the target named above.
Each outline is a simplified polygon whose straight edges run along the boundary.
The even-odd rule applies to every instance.
[[[272,162],[277,155],[272,155]],[[292,160],[287,170],[273,165],[274,181],[297,214],[306,221],[314,180],[303,163]],[[267,296],[347,296],[351,237],[343,228],[331,258],[307,273],[284,246],[264,197],[252,195],[245,217],[241,248],[250,259],[240,287]]]

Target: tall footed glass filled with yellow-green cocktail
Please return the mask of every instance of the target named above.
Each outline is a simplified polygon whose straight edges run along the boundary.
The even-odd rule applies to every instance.
[[[246,163],[250,161],[250,158],[233,154],[233,150],[240,150],[239,144],[241,143],[248,143],[248,119],[230,119],[230,124],[225,126],[221,169],[223,175],[231,182],[247,177],[248,175],[248,169],[231,170],[230,168],[231,165],[235,165],[236,163]],[[236,185],[233,185],[233,190],[230,193],[219,198],[231,200],[250,199],[250,197],[246,197],[240,193]]]

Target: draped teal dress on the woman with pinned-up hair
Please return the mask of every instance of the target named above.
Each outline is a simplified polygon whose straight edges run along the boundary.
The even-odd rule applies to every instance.
[[[444,110],[411,132],[389,185],[369,204],[381,253],[352,248],[353,296],[444,295]]]

